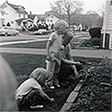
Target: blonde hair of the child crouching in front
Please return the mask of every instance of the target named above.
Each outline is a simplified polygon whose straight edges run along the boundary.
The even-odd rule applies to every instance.
[[[30,75],[30,78],[34,78],[39,84],[44,85],[47,79],[47,72],[44,68],[36,68]]]

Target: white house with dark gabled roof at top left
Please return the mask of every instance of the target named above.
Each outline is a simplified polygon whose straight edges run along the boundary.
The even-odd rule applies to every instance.
[[[4,10],[4,24],[10,24],[13,28],[21,28],[22,20],[28,18],[28,13],[21,5],[14,5],[7,1],[1,5],[1,9]]]

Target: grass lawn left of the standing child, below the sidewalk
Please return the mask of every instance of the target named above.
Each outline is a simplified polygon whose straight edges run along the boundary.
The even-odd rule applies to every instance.
[[[26,80],[36,67],[45,67],[45,56],[28,54],[2,54],[16,74],[18,84]]]

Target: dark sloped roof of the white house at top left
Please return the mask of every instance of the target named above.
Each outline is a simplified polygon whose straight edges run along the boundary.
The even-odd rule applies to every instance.
[[[10,7],[12,7],[17,13],[28,14],[22,5],[14,5],[9,2],[6,2],[6,4],[9,5]]]

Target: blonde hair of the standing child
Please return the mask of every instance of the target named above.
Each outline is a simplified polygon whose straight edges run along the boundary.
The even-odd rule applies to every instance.
[[[64,20],[58,20],[55,25],[54,25],[54,28],[55,30],[57,29],[67,29],[69,27],[68,23]]]

